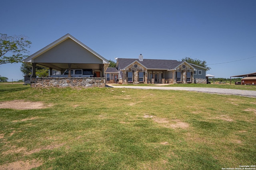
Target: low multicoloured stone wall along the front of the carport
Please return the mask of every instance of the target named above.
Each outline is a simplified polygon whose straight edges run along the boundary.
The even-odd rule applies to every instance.
[[[104,77],[30,78],[31,87],[105,87]]]

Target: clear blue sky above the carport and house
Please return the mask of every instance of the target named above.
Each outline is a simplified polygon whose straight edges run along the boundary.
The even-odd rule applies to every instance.
[[[70,33],[112,61],[191,57],[205,60],[207,73],[218,78],[256,72],[256,0],[2,0],[0,6],[0,33],[26,35],[31,55]],[[20,80],[20,66],[1,64],[0,75]]]

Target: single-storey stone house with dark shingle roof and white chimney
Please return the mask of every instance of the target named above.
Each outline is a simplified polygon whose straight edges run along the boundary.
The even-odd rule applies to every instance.
[[[107,83],[118,77],[122,84],[139,83],[206,83],[206,68],[186,61],[143,59],[116,59],[116,68],[106,70]]]

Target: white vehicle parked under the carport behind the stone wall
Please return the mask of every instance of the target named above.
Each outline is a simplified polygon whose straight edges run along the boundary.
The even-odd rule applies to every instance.
[[[92,69],[71,69],[71,77],[93,77]],[[68,77],[68,69],[63,74],[51,75],[50,77]]]

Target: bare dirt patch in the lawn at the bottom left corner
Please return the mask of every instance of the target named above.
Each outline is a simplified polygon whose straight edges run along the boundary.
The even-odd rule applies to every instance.
[[[26,162],[24,161],[12,162],[10,164],[0,166],[0,169],[1,170],[30,170],[32,168],[36,168],[41,165],[42,165],[42,162],[34,159],[34,160],[27,160]]]

